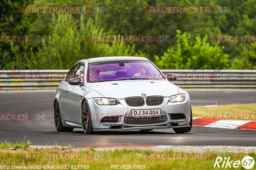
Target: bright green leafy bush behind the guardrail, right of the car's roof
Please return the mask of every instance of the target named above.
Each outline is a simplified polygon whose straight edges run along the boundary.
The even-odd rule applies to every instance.
[[[224,69],[228,67],[228,54],[222,53],[223,47],[206,43],[207,35],[193,41],[190,34],[177,30],[177,44],[159,58],[155,64],[161,69]]]

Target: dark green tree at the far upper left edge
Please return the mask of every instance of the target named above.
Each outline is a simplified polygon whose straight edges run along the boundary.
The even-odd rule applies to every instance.
[[[0,35],[29,35],[31,23],[35,16],[22,13],[22,7],[33,0],[1,0],[0,1]],[[0,43],[0,69],[16,69],[20,60],[13,50],[25,51],[23,43]],[[20,61],[19,61],[20,62]]]

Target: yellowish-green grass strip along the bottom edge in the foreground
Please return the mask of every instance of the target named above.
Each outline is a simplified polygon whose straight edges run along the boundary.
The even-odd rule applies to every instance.
[[[86,158],[88,160],[81,160],[80,157],[74,157],[75,159],[69,160],[70,157],[66,157],[63,155],[68,154],[76,154],[76,155],[82,155],[85,154]],[[152,154],[154,156],[152,156]],[[159,156],[157,156],[157,154]],[[0,151],[0,164],[11,166],[55,166],[54,169],[58,169],[57,166],[64,166],[63,169],[88,169],[84,167],[89,167],[89,169],[97,169],[97,170],[106,170],[106,169],[114,169],[111,168],[111,165],[131,165],[131,169],[135,169],[133,166],[140,165],[141,167],[144,167],[147,170],[180,170],[180,169],[190,169],[190,170],[198,170],[198,169],[213,169],[215,160],[217,156],[224,157],[230,157],[230,160],[240,160],[244,158],[244,156],[251,156],[254,160],[256,160],[255,154],[235,154],[235,153],[211,153],[210,160],[205,160],[203,158],[201,160],[192,160],[188,158],[188,153],[181,154],[180,158],[178,160],[168,160],[167,157],[162,156],[163,154],[172,154],[170,158],[172,159],[178,159],[177,152],[172,151],[165,151],[165,152],[156,152],[156,151],[142,151],[142,150],[115,150],[115,151],[103,151],[103,152],[96,152],[92,149],[88,149],[86,151],[72,151],[72,150],[66,150],[66,149],[57,149],[57,150],[41,150],[41,151],[34,151],[34,152],[27,152],[25,150],[19,150],[19,151]],[[191,154],[191,153],[190,153]],[[195,153],[198,154],[198,153]],[[202,154],[202,153],[199,153]],[[208,153],[209,154],[209,153]],[[56,160],[52,160],[54,156],[49,159],[49,155],[55,155]],[[58,156],[56,156],[58,155]],[[62,155],[62,156],[60,156]],[[150,157],[151,155],[151,157]],[[173,155],[176,155],[176,157]],[[184,155],[187,155],[184,157]],[[161,160],[164,159],[164,160]],[[233,161],[234,162],[234,161]],[[220,166],[222,166],[223,161],[221,162]],[[72,165],[72,166],[71,166]],[[75,167],[76,165],[76,167]],[[78,165],[80,167],[78,168]],[[83,165],[83,168],[81,168]],[[85,165],[85,166],[84,166]],[[87,166],[89,165],[89,166]],[[231,164],[232,165],[232,164]],[[224,165],[225,166],[225,165]],[[69,168],[68,168],[69,167]],[[19,169],[25,169],[24,167],[19,167]],[[36,168],[36,169],[40,169]],[[41,167],[42,169],[42,167]],[[60,168],[59,168],[60,169]],[[123,168],[125,169],[125,168]],[[233,168],[231,168],[233,169]],[[243,169],[242,165],[239,166],[239,168],[234,169]]]

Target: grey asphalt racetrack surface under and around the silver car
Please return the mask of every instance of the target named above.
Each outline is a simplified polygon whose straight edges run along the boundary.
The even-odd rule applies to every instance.
[[[256,91],[187,90],[192,105],[256,103]],[[32,114],[39,120],[0,121],[0,140],[21,140],[32,145],[256,145],[256,131],[193,126],[189,133],[172,129],[96,132],[85,135],[82,129],[57,132],[53,121],[55,91],[0,92],[0,114]]]

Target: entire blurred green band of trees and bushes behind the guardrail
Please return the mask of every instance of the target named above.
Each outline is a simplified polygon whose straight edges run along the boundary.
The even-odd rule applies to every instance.
[[[26,6],[104,7],[104,13],[24,14]],[[148,6],[228,7],[212,14],[152,14]],[[69,69],[78,60],[143,56],[165,69],[256,69],[254,43],[216,35],[255,35],[256,0],[1,0],[0,35],[46,35],[46,42],[0,43],[2,69]],[[90,35],[162,35],[169,42],[92,43]]]

